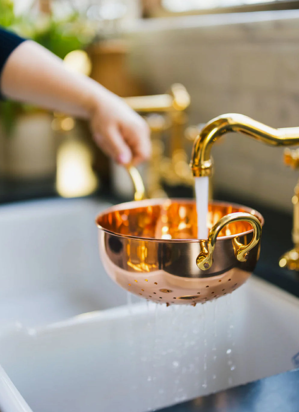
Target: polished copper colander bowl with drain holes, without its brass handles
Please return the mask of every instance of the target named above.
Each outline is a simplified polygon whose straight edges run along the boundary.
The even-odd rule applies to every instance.
[[[255,210],[213,202],[212,228],[228,214],[244,213],[260,222]],[[98,215],[100,256],[109,276],[122,288],[145,299],[167,304],[196,304],[215,299],[241,286],[259,257],[259,238],[246,260],[236,247],[248,245],[253,229],[237,220],[223,227],[214,245],[213,264],[201,270],[196,260],[208,247],[199,240],[193,200],[150,199],[113,206]]]

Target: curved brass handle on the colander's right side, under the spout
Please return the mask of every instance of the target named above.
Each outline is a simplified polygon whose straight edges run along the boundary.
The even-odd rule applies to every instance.
[[[215,249],[215,244],[216,244],[216,239],[219,234],[219,232],[229,223],[233,222],[239,222],[239,221],[245,221],[250,223],[253,228],[253,238],[248,245],[243,245],[242,243],[237,241],[237,238],[233,238],[233,245],[234,245],[234,250],[235,250],[235,256],[236,259],[239,262],[246,262],[248,259],[248,253],[252,248],[254,248],[257,243],[259,243],[259,240],[261,238],[262,234],[262,225],[259,219],[251,215],[250,213],[243,213],[243,212],[238,212],[238,213],[230,213],[226,216],[223,216],[218,222],[212,227],[208,241],[207,241],[207,246],[206,246],[206,241],[201,241],[200,246],[201,246],[201,253],[196,258],[196,265],[199,267],[201,270],[207,270],[210,269],[213,263],[213,252]]]

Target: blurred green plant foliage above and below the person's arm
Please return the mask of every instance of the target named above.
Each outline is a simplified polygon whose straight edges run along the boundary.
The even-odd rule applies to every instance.
[[[61,59],[73,50],[84,49],[95,37],[92,26],[77,11],[63,18],[33,12],[16,16],[12,0],[0,0],[0,26],[34,40]],[[32,110],[36,108],[15,101],[1,101],[0,116],[5,134],[11,136],[19,114]]]

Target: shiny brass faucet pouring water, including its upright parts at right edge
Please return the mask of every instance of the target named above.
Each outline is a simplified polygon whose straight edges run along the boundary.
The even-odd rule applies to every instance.
[[[221,115],[208,122],[194,140],[190,163],[194,177],[212,176],[213,162],[210,157],[212,145],[222,135],[230,132],[243,133],[272,146],[299,145],[299,127],[273,129],[244,115],[236,113]],[[286,149],[285,163],[294,169],[299,169],[299,150]],[[294,190],[292,203],[294,248],[280,258],[279,266],[299,271],[299,181]]]

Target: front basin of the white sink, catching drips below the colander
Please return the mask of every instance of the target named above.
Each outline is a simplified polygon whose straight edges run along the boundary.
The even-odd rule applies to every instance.
[[[0,409],[146,412],[254,381],[294,367],[298,320],[297,298],[252,277],[195,308],[137,303],[5,330]]]

